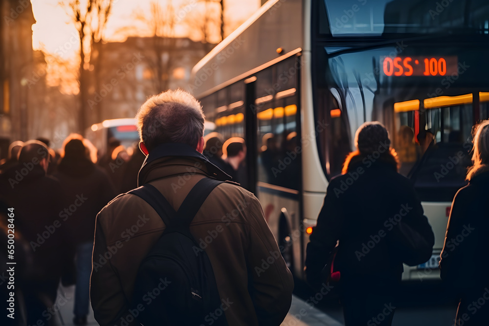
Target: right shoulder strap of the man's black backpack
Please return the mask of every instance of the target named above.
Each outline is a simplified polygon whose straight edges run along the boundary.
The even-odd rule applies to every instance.
[[[184,225],[188,226],[192,222],[207,196],[223,182],[208,177],[204,177],[197,182],[185,197],[177,212],[178,218],[183,221]]]

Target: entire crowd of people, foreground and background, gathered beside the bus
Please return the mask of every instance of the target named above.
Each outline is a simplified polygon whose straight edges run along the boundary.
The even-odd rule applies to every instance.
[[[152,188],[166,198],[167,212],[178,214],[180,206],[189,210],[186,197],[205,178],[220,180],[219,185],[205,194],[187,227],[208,255],[221,299],[231,303],[224,309],[222,301],[225,320],[216,317],[213,323],[280,325],[291,304],[293,279],[260,203],[245,189],[244,139],[223,141],[218,133],[204,138],[200,104],[180,90],[150,98],[136,121],[140,150],[110,139],[107,153],[98,155],[79,134],[69,135],[60,152],[43,138],[10,145],[0,165],[0,265],[15,261],[9,268],[16,273],[15,287],[6,287],[12,274],[1,270],[0,301],[8,302],[15,292],[17,313],[22,316],[24,311],[25,320],[2,314],[1,325],[56,325],[60,282],[76,285],[75,325],[87,324],[90,300],[100,325],[134,325],[130,298],[138,267],[165,236],[167,225],[150,201],[131,190],[141,185]],[[154,121],[165,128],[152,130]],[[468,185],[454,198],[440,264],[442,279],[457,288],[461,298],[457,323],[465,325],[489,320],[488,306],[470,314],[471,302],[482,295],[481,288],[489,287],[485,274],[489,266],[476,260],[487,246],[484,235],[489,230],[485,207],[489,121],[474,130],[473,166],[467,173]],[[411,137],[409,130],[405,133]],[[296,143],[294,137],[288,138],[291,144]],[[264,139],[268,146],[261,160],[267,165],[274,157],[273,135]],[[333,267],[330,275],[324,271],[333,255],[341,271],[346,325],[370,325],[382,311],[383,319],[376,325],[391,325],[395,307],[389,313],[385,308],[400,282],[402,263],[429,259],[434,235],[413,185],[399,174],[400,162],[385,127],[378,122],[363,124],[355,143],[343,174],[330,180],[307,245],[305,271],[308,282],[322,293],[326,276],[333,280]],[[406,150],[402,155],[415,153]],[[343,183],[348,184],[346,190]],[[450,244],[464,232],[471,236],[457,246]],[[4,250],[10,248],[11,239],[12,251]],[[375,248],[369,246],[365,252],[365,243],[370,242]],[[193,298],[202,299],[194,291]]]

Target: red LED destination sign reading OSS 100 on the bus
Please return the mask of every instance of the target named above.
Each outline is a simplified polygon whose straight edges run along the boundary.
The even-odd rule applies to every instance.
[[[457,76],[457,56],[380,57],[386,76]]]

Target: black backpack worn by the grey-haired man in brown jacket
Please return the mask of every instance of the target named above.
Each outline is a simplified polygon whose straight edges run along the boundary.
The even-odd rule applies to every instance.
[[[205,198],[220,183],[201,179],[178,212],[150,184],[130,192],[148,202],[166,226],[134,282],[130,311],[140,324],[227,325],[209,257],[189,231]]]

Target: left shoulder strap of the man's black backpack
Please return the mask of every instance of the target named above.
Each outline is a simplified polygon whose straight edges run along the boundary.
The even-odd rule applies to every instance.
[[[146,183],[143,186],[128,192],[128,194],[136,195],[150,204],[156,213],[158,213],[159,217],[161,217],[166,227],[175,225],[177,212],[155,186]]]

